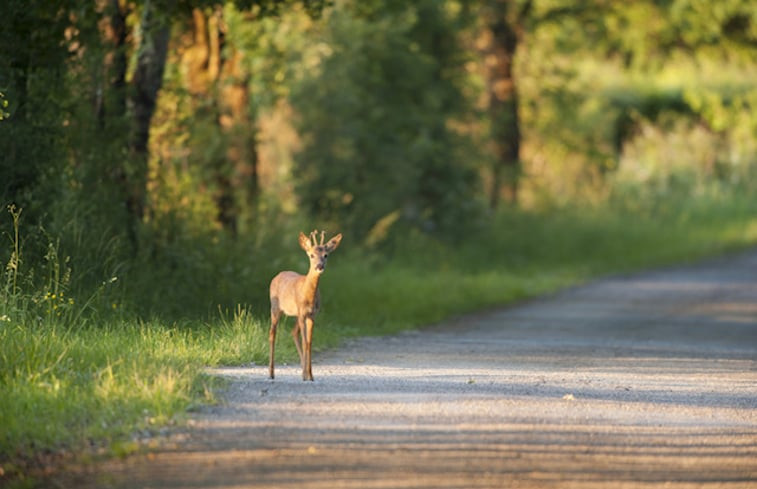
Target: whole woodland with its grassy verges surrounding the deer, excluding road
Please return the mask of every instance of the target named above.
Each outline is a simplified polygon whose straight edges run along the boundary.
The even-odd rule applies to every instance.
[[[0,480],[264,362],[299,231],[318,348],[757,243],[752,0],[0,12]]]

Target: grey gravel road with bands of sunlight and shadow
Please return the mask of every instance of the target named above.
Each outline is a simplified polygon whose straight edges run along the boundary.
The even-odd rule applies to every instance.
[[[317,341],[317,338],[316,338]],[[299,368],[89,487],[757,487],[757,253],[614,278]]]

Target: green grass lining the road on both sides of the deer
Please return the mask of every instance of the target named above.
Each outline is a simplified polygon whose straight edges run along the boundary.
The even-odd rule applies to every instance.
[[[343,246],[323,277],[317,349],[346,337],[417,328],[605,274],[742,249],[757,243],[757,205],[734,197],[633,212],[502,212],[486,229],[457,243],[411,236],[385,254]],[[265,284],[269,270],[261,273],[265,277],[258,282]],[[195,278],[210,286],[210,277]],[[246,285],[239,287],[246,290]],[[160,282],[156,291],[161,287],[170,300],[168,285]],[[266,290],[256,287],[263,290],[254,297],[263,299],[251,305],[217,311],[210,319],[173,322],[92,313],[93,304],[102,308],[108,301],[89,301],[87,314],[66,301],[69,310],[59,317],[49,303],[34,309],[30,296],[16,293],[11,301],[6,293],[5,309],[0,308],[4,472],[18,475],[20,462],[49,450],[95,446],[116,455],[128,452],[138,430],[180,423],[193,406],[214,402],[219,381],[204,374],[205,367],[266,364]],[[29,311],[16,314],[25,307]],[[279,339],[278,360],[294,360],[289,335]],[[262,367],[260,375],[265,375]]]

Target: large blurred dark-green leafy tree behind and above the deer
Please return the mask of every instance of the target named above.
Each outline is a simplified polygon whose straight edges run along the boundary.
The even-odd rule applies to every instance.
[[[397,221],[448,232],[471,215],[453,14],[440,2],[362,3],[329,17],[330,54],[297,88],[302,206],[362,241]],[[385,226],[386,227],[386,226]]]

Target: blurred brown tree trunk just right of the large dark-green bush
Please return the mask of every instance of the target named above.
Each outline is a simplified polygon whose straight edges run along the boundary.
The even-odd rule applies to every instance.
[[[521,135],[513,61],[530,2],[518,11],[513,2],[506,0],[490,0],[488,7],[486,32],[479,40],[479,47],[485,61],[494,146],[489,205],[496,208],[503,193],[510,203],[518,200]]]

